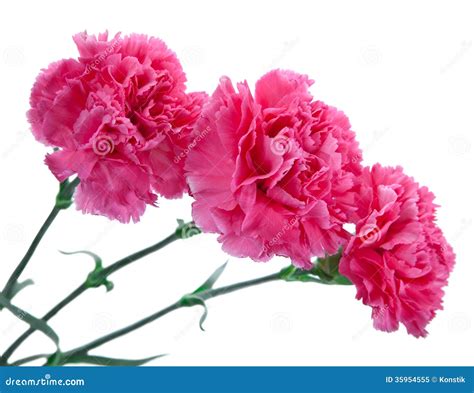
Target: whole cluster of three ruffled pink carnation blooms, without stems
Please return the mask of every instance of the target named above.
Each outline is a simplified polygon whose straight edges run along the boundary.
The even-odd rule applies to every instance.
[[[138,221],[156,194],[188,191],[197,225],[229,254],[309,269],[342,248],[340,273],[375,327],[427,334],[455,259],[434,196],[399,167],[362,167],[348,118],[313,98],[312,80],[274,70],[252,93],[223,77],[207,97],[186,93],[159,39],[74,41],[79,58],[40,74],[28,117],[35,137],[58,148],[46,157],[55,176],[79,177],[79,209]]]

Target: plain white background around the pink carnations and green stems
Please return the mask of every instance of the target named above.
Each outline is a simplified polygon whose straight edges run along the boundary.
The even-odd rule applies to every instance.
[[[0,11],[0,279],[18,263],[52,206],[56,181],[46,148],[25,118],[42,67],[77,52],[71,36],[146,33],[180,57],[190,90],[211,92],[225,74],[253,86],[281,67],[308,73],[318,99],[343,109],[364,163],[400,164],[437,195],[439,224],[457,253],[445,310],[426,339],[371,327],[354,287],[272,283],[180,310],[94,351],[169,356],[153,365],[473,365],[474,24],[469,1],[8,1]],[[62,212],[22,278],[36,285],[15,303],[42,315],[92,268],[148,246],[190,218],[190,198],[160,201],[139,224]],[[471,239],[469,241],[469,239]],[[87,292],[51,321],[64,350],[120,328],[195,289],[228,257],[200,235],[112,276],[115,289]],[[277,271],[287,262],[230,258],[221,284]],[[0,313],[0,350],[25,324]],[[15,357],[51,351],[35,334]]]

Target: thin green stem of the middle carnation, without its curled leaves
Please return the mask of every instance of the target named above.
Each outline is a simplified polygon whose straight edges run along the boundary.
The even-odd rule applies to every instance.
[[[125,258],[118,260],[117,262],[113,263],[112,265],[106,267],[102,271],[103,278],[107,278],[111,274],[115,273],[116,271],[124,268],[125,266],[135,262],[149,254],[152,254],[155,251],[158,251],[167,245],[173,243],[175,240],[181,239],[181,237],[175,232],[173,232],[167,238],[161,240],[160,242],[153,244],[150,247],[144,248],[143,250],[137,251]],[[73,290],[69,295],[67,295],[63,300],[61,300],[58,304],[56,304],[51,310],[49,310],[41,319],[44,321],[50,320],[54,317],[59,311],[61,311],[64,307],[66,307],[69,303],[74,301],[78,298],[82,293],[87,291],[90,287],[83,283],[79,285],[75,290]],[[11,344],[3,355],[0,358],[0,365],[6,365],[10,356],[15,352],[15,350],[32,334],[35,332],[35,329],[29,328],[26,330],[21,336],[19,336],[13,344]]]

